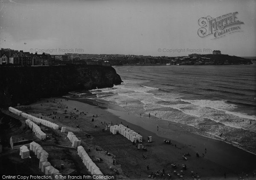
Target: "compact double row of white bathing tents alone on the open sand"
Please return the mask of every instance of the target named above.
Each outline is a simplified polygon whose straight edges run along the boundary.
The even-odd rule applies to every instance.
[[[137,141],[139,143],[141,143],[142,139],[143,139],[142,135],[125,127],[122,124],[110,126],[110,132],[112,134],[116,134],[118,132],[119,134],[122,134],[124,137],[126,137],[128,140],[130,140],[131,142],[135,142],[135,143]]]

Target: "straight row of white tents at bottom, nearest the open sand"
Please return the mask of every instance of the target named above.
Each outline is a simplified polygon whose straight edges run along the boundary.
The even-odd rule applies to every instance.
[[[84,163],[84,166],[88,169],[88,171],[91,174],[102,174],[102,172],[99,170],[98,166],[96,166],[95,163],[91,160],[91,158],[88,156],[87,152],[84,150],[83,146],[77,147],[77,152],[79,157],[81,157],[81,160]]]

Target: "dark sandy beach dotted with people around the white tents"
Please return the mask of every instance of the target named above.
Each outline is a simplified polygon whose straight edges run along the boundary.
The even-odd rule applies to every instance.
[[[60,127],[67,127],[65,133],[61,133],[59,130],[50,130],[49,134],[51,135],[49,137],[52,138],[52,143],[56,141],[58,142],[58,146],[71,146],[66,136],[67,131],[72,131],[79,140],[82,140],[81,146],[84,147],[102,173],[115,174],[113,169],[119,171],[117,179],[147,179],[151,172],[155,174],[157,171],[162,171],[163,169],[166,174],[171,175],[171,179],[194,179],[191,171],[201,179],[225,179],[224,174],[226,174],[226,179],[245,178],[246,174],[251,179],[253,178],[253,172],[256,170],[256,156],[254,154],[250,154],[218,140],[183,132],[182,125],[178,123],[160,122],[153,116],[146,117],[142,115],[142,117],[138,117],[134,114],[121,111],[122,108],[120,107],[108,107],[105,103],[99,103],[99,106],[93,106],[93,104],[97,103],[99,102],[92,102],[91,100],[79,102],[76,100],[67,101],[64,98],[49,98],[31,104],[32,109],[23,109],[22,111],[28,112],[36,117],[42,116],[44,119],[56,123]],[[76,119],[65,118],[67,114],[64,114],[64,109],[66,107],[68,107],[67,114],[69,117],[72,114]],[[79,111],[76,111],[74,108]],[[47,114],[52,114],[53,111],[57,112],[55,115],[57,117],[56,119],[47,116]],[[82,111],[86,115],[80,115]],[[98,115],[98,117],[93,117],[93,115]],[[94,118],[93,122],[91,121],[92,118]],[[147,151],[137,150],[136,146],[122,135],[111,134],[109,128],[103,132],[104,123],[111,122],[113,125],[122,122],[123,125],[128,125],[130,129],[140,132],[143,136],[143,146],[147,148]],[[159,126],[158,131],[157,126]],[[43,129],[43,131],[47,133],[46,129]],[[86,134],[90,134],[91,137],[87,138]],[[153,137],[152,143],[147,142],[148,136]],[[163,140],[172,140],[173,144],[166,144]],[[52,153],[56,148],[53,145],[52,147],[47,147],[47,150]],[[102,149],[102,151],[96,151],[96,147]],[[90,152],[88,152],[88,149],[90,149]],[[106,155],[105,151],[111,153],[111,156]],[[77,157],[76,150],[69,149],[68,152],[78,162],[81,161]],[[196,157],[197,152],[200,155],[199,158]],[[188,160],[183,159],[182,155],[184,153],[191,155],[187,156]],[[58,151],[56,151],[55,155],[58,156]],[[96,158],[99,157],[103,159],[103,162],[97,162]],[[116,165],[112,164],[113,159]],[[56,158],[53,158],[53,161],[56,161],[58,164],[60,163]],[[65,166],[70,167],[68,161],[65,162],[67,163]],[[177,164],[177,169],[172,167],[172,163]],[[186,170],[182,169],[182,164],[186,164]],[[147,170],[147,166],[149,166],[149,171]],[[60,170],[60,172],[71,172],[68,169],[79,169],[77,172],[86,173],[86,167],[81,162],[76,166],[72,166],[72,168]],[[177,173],[182,174],[183,178],[178,177],[176,175]],[[165,179],[166,177],[157,178]]]

